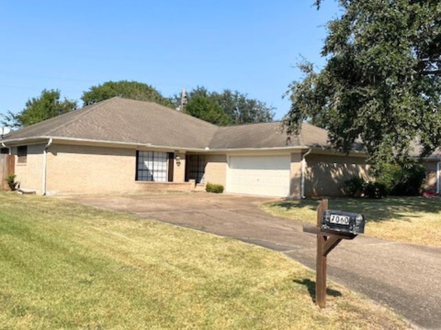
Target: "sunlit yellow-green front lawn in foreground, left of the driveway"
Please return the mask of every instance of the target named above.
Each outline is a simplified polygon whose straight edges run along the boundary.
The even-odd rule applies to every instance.
[[[209,221],[209,219],[208,219]],[[283,254],[76,203],[0,193],[0,329],[407,329]]]

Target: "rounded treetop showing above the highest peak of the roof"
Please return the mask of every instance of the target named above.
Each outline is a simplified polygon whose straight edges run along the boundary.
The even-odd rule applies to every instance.
[[[166,107],[172,107],[171,100],[162,96],[154,87],[127,80],[107,81],[102,85],[92,86],[88,91],[83,92],[81,100],[83,100],[83,105],[86,106],[115,96],[131,98],[133,100],[151,101],[163,104]]]

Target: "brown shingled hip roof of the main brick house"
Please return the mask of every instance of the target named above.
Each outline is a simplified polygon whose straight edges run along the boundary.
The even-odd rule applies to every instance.
[[[26,126],[1,142],[41,138],[146,144],[183,149],[240,149],[327,146],[327,131],[302,124],[287,137],[280,122],[220,127],[154,102],[111,98]]]

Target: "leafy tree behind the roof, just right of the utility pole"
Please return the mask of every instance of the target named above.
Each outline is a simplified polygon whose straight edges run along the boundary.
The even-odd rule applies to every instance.
[[[176,100],[178,97],[175,96]],[[206,99],[205,104],[212,104],[207,108],[207,113],[201,111],[194,111],[193,100],[198,100],[201,104],[201,99]],[[213,122],[222,126],[234,124],[247,124],[256,122],[271,122],[274,117],[274,108],[268,107],[264,102],[248,98],[247,94],[241,94],[238,91],[231,91],[225,89],[222,93],[209,92],[205,87],[196,87],[189,91],[187,96],[188,103],[185,106],[187,113],[194,115],[203,120]],[[216,107],[214,107],[216,104]],[[214,112],[218,115],[213,116]],[[209,118],[216,118],[216,122]],[[221,119],[220,119],[221,118]]]

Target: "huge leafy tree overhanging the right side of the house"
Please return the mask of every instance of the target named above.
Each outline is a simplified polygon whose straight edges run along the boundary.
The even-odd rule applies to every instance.
[[[325,67],[300,63],[305,76],[290,85],[287,133],[311,120],[340,151],[361,139],[376,166],[404,161],[414,141],[429,155],[441,142],[441,2],[340,0],[340,7],[327,25]]]

